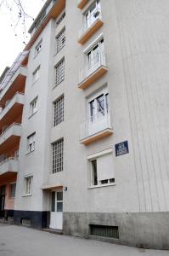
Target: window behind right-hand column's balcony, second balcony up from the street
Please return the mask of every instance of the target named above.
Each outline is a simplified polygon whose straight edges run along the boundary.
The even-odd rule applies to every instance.
[[[102,38],[99,43],[87,53],[87,70],[89,74],[93,73],[100,65],[104,65],[104,62],[104,38]]]

